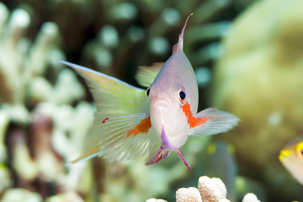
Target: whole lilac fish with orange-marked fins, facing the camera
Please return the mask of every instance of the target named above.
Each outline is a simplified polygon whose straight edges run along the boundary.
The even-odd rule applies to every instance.
[[[163,66],[156,63],[137,72],[138,83],[148,87],[147,90],[60,61],[85,79],[97,107],[82,155],[70,163],[95,156],[109,162],[121,162],[149,153],[146,165],[151,165],[175,151],[191,169],[179,149],[188,136],[223,133],[238,124],[237,116],[214,107],[197,113],[198,85],[183,52],[183,34],[188,18],[172,56]]]

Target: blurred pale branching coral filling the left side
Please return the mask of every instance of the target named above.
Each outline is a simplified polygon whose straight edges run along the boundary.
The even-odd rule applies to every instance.
[[[47,197],[45,193],[51,183],[60,185],[62,191],[77,189],[81,175],[71,177],[73,169],[66,173],[62,161],[76,154],[92,122],[90,103],[82,101],[72,106],[85,96],[85,91],[76,74],[62,69],[57,62],[65,58],[59,49],[58,26],[45,22],[31,42],[26,37],[30,25],[31,15],[27,11],[19,8],[10,13],[0,3],[3,201],[12,201],[12,197],[22,200],[22,196],[37,196],[40,201],[39,194]],[[24,189],[6,190],[11,186],[39,194],[28,195]]]

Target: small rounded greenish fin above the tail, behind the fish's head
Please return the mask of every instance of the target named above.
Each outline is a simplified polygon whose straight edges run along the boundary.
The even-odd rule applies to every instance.
[[[148,87],[155,80],[164,62],[153,63],[152,66],[139,66],[135,79],[140,86]]]

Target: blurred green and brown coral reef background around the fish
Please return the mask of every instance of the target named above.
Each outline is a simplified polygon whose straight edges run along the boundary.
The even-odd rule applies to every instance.
[[[303,133],[301,8],[297,0],[1,1],[0,201],[175,201],[203,175],[220,177],[232,202],[248,192],[262,202],[302,200],[303,187],[278,162]],[[192,171],[177,155],[154,166],[142,157],[65,167],[95,108],[83,79],[58,60],[138,86],[138,66],[165,62],[191,13],[184,51],[199,110],[235,113],[239,126],[190,137],[182,152]]]

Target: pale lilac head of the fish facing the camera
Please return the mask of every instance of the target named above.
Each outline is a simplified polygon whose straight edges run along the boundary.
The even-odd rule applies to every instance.
[[[183,51],[175,52],[163,65],[147,89],[151,124],[158,134],[169,137],[187,135],[188,120],[184,109],[198,109],[198,85],[194,71]]]

